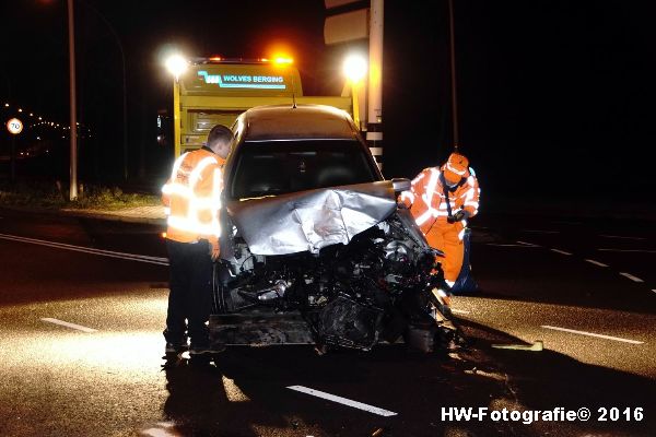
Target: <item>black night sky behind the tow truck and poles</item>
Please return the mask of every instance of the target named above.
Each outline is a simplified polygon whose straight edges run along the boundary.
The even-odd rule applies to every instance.
[[[649,2],[454,3],[460,146],[484,193],[653,199],[645,156],[656,125]],[[0,101],[66,122],[66,1],[0,4]],[[79,118],[97,133],[81,144],[87,178],[112,180],[121,168],[121,57],[108,24],[126,55],[131,175],[140,153],[147,177],[167,172],[169,152],[154,141],[157,110],[171,105],[160,59],[167,47],[245,58],[288,47],[306,95],[341,91],[340,57],[349,46],[324,45],[321,0],[78,0],[75,8]],[[387,177],[413,177],[448,155],[448,60],[446,0],[386,1]]]

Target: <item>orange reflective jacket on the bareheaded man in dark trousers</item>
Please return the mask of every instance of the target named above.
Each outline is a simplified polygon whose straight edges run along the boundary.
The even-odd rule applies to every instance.
[[[224,163],[207,149],[187,152],[175,161],[171,178],[162,187],[166,238],[180,243],[207,239],[218,247]]]

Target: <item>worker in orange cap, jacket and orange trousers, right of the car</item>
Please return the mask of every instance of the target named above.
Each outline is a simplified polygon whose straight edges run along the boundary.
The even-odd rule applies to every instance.
[[[467,220],[478,213],[480,188],[469,161],[452,153],[442,167],[429,167],[412,180],[401,201],[410,208],[414,221],[431,247],[444,252],[442,263],[446,284],[452,287],[460,269]]]

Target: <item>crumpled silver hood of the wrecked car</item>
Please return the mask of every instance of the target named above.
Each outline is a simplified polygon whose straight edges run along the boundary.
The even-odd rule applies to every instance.
[[[397,209],[389,180],[227,203],[251,253],[318,253],[387,218]]]

